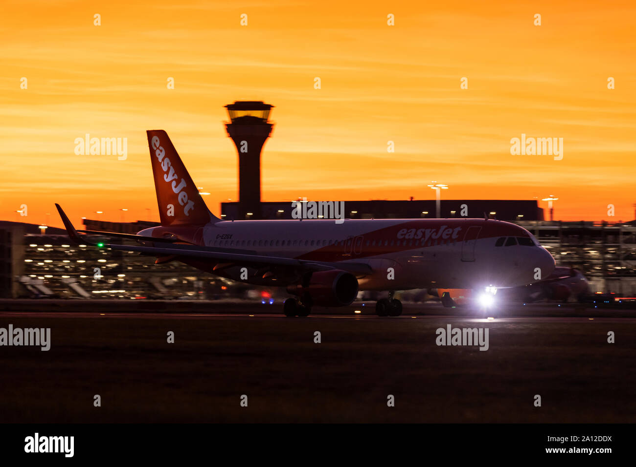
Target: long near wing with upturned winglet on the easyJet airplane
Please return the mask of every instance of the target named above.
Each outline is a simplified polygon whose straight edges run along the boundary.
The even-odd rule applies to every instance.
[[[55,204],[58,212],[60,213],[60,217],[62,217],[62,222],[64,222],[64,227],[66,227],[66,231],[69,234],[71,240],[74,240],[78,243],[84,242],[90,245],[97,245],[92,241],[86,240],[86,236],[80,236],[78,231],[73,227],[71,221],[67,217],[66,213],[62,210],[60,205]],[[87,233],[92,233],[93,231],[86,231]],[[100,235],[111,235],[107,232],[99,232],[95,234]],[[147,237],[142,235],[134,235],[134,234],[115,234],[114,236],[122,236],[125,235],[125,238],[129,238],[130,240],[138,240],[138,241],[162,241],[160,238],[155,237]],[[179,240],[177,240],[179,241]],[[129,252],[141,252],[143,254],[151,254],[156,256],[167,256],[167,255],[176,255],[176,256],[186,256],[186,257],[194,257],[198,259],[211,259],[218,260],[223,262],[235,262],[239,264],[246,265],[256,265],[256,266],[287,266],[293,267],[295,269],[302,269],[303,271],[329,271],[331,269],[339,269],[342,271],[347,271],[352,274],[364,275],[370,274],[373,272],[371,266],[364,263],[356,263],[356,262],[326,262],[326,261],[305,261],[301,259],[293,259],[293,258],[284,258],[284,257],[275,257],[275,256],[265,256],[265,255],[257,255],[251,254],[249,252],[236,253],[236,250],[223,250],[223,248],[206,248],[206,247],[198,247],[195,245],[183,245],[183,244],[175,244],[170,247],[148,247],[148,246],[137,246],[137,245],[117,245],[113,243],[102,243],[100,244],[101,248],[111,248],[113,250],[123,250]]]

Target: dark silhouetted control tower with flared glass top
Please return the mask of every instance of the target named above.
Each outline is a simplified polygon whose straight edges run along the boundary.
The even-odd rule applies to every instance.
[[[231,123],[225,129],[239,152],[239,217],[261,219],[261,150],[272,133],[268,122],[273,105],[262,100],[237,100],[225,106]]]

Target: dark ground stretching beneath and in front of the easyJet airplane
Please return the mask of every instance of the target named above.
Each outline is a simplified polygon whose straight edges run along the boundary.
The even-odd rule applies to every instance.
[[[630,423],[636,416],[636,318],[488,320],[443,308],[397,318],[286,318],[252,309],[1,312],[0,327],[50,328],[51,342],[49,351],[0,346],[2,419]],[[439,346],[437,331],[447,325],[488,328],[488,350]]]

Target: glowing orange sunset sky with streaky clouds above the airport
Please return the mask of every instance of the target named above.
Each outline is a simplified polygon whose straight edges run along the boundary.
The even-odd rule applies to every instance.
[[[635,13],[633,1],[3,0],[0,219],[61,226],[58,202],[78,224],[119,208],[155,220],[148,129],[169,133],[218,214],[237,199],[223,105],[265,100],[263,201],[430,199],[437,180],[446,199],[554,194],[557,219],[631,220]],[[85,133],[126,137],[127,160],[76,156]],[[562,137],[563,160],[512,156],[521,133]]]

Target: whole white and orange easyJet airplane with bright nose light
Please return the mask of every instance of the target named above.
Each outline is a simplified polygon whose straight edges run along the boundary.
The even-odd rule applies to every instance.
[[[396,290],[515,287],[555,261],[532,234],[488,219],[222,220],[205,206],[170,138],[148,130],[161,225],[137,234],[76,230],[56,203],[71,240],[180,261],[235,281],[286,287],[286,316],[308,316],[312,306],[348,306],[359,290],[380,290],[378,316],[399,316]],[[91,236],[139,245],[90,241]],[[506,247],[502,236],[517,238]]]

